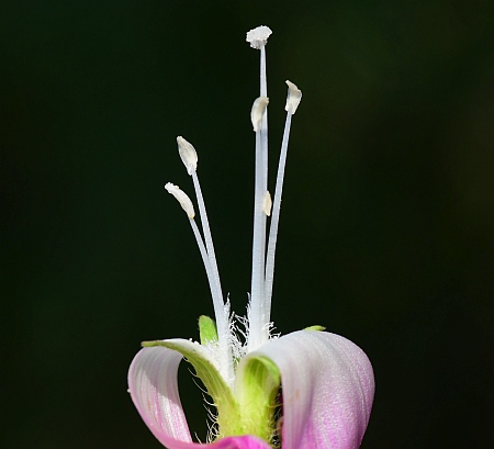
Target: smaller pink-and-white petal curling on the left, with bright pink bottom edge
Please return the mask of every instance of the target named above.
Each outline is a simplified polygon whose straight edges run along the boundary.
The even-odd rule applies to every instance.
[[[251,436],[223,438],[211,445],[192,442],[178,392],[181,360],[181,353],[165,347],[144,348],[128,370],[132,401],[161,445],[169,449],[271,449]]]

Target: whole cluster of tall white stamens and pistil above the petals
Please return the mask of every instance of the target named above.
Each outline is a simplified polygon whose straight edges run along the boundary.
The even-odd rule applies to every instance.
[[[266,76],[266,43],[271,34],[267,26],[259,26],[247,33],[247,42],[250,46],[260,50],[260,96],[254,102],[251,122],[256,132],[256,162],[255,162],[255,199],[254,199],[254,237],[252,237],[252,273],[247,311],[246,347],[238,349],[239,341],[232,334],[232,319],[229,316],[229,302],[224,301],[216,263],[213,239],[211,236],[207,213],[201,186],[197,175],[198,154],[195,148],[183,137],[177,137],[180,157],[192,177],[195,195],[201,216],[202,233],[195,224],[194,209],[189,197],[177,186],[167,183],[165,188],[171,193],[187,212],[195,240],[201,252],[204,268],[207,274],[211,295],[213,298],[214,313],[218,333],[217,359],[220,372],[225,381],[232,385],[235,378],[234,356],[256,350],[270,339],[271,295],[274,274],[274,255],[280,218],[281,194],[283,191],[283,176],[287,162],[288,143],[292,115],[295,113],[302,98],[297,87],[287,81],[289,87],[287,105],[287,122],[278,166],[274,199],[268,191],[268,97]],[[266,245],[267,217],[271,215],[268,245]],[[267,248],[266,248],[267,246]],[[236,346],[235,346],[236,345]],[[240,352],[239,352],[240,351]]]

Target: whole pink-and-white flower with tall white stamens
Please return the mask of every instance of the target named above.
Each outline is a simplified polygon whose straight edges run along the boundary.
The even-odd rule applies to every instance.
[[[271,199],[266,80],[270,34],[267,26],[247,33],[247,42],[260,52],[260,93],[250,111],[256,164],[252,271],[246,317],[232,314],[228,299],[223,295],[198,177],[198,153],[181,136],[177,137],[179,155],[192,178],[202,229],[195,223],[190,198],[178,186],[165,186],[189,218],[206,270],[215,317],[200,317],[200,341],[146,341],[131,364],[131,397],[151,433],[169,449],[355,449],[369,422],[374,379],[370,361],[359,347],[321,326],[283,336],[273,334],[270,310],[283,175],[291,121],[302,92],[287,81],[287,122]],[[215,408],[205,445],[192,441],[180,403],[177,372],[182,359],[192,364]]]

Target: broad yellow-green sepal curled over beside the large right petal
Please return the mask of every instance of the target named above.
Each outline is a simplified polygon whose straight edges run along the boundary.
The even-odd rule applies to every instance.
[[[240,362],[235,396],[242,411],[246,435],[256,435],[265,441],[272,442],[280,383],[280,370],[271,359],[265,356],[247,356]]]

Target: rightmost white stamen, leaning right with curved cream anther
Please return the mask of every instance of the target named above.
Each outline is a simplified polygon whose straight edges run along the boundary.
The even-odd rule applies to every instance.
[[[277,248],[278,237],[278,224],[280,222],[280,207],[281,207],[281,194],[283,192],[283,177],[284,167],[287,164],[288,144],[290,138],[290,125],[292,123],[292,115],[295,113],[296,108],[302,99],[301,90],[290,81],[287,81],[289,92],[287,97],[287,121],[284,124],[283,139],[281,143],[280,161],[278,164],[277,186],[274,191],[274,202],[272,206],[271,226],[269,229],[268,250],[266,255],[266,287],[265,287],[265,301],[266,301],[266,319],[270,321],[271,313],[271,295],[272,295],[272,282],[274,277],[274,254]]]

